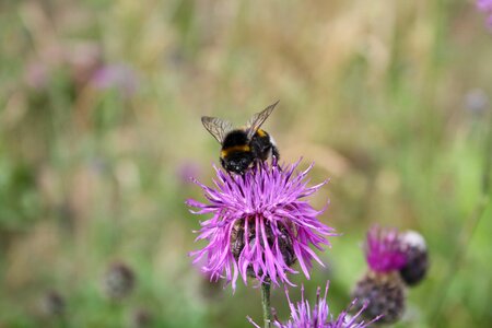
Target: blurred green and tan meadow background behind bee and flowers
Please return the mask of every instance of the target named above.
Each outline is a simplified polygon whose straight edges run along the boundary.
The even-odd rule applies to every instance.
[[[492,39],[471,1],[0,2],[0,327],[250,327],[191,266],[220,145],[200,116],[315,162],[343,235],[305,283],[338,313],[373,223],[421,232],[432,267],[396,327],[492,324]],[[109,300],[108,268],[134,286]],[[56,295],[56,296],[55,296]],[[298,291],[292,291],[297,300]],[[65,304],[65,305],[63,305]],[[272,305],[286,318],[283,291]]]

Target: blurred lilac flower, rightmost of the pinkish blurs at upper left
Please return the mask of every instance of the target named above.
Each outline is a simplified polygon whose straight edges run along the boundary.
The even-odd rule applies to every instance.
[[[124,96],[131,96],[138,85],[137,75],[130,67],[118,63],[107,65],[95,71],[92,83],[96,89],[117,89]]]

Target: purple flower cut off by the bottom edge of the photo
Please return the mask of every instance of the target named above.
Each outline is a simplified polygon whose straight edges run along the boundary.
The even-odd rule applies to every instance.
[[[354,316],[350,316],[349,311],[355,305],[354,300],[350,306],[340,313],[337,319],[333,319],[333,315],[329,311],[327,295],[328,295],[329,281],[326,283],[325,295],[321,298],[321,289],[318,288],[316,292],[316,304],[313,309],[309,306],[309,302],[304,300],[304,286],[301,288],[301,302],[296,304],[292,303],[289,291],[285,288],[285,295],[288,297],[289,307],[291,309],[291,318],[285,324],[282,324],[278,318],[272,323],[274,327],[279,328],[364,328],[375,323],[380,316],[375,317],[368,323],[361,320],[360,315],[367,307],[367,303],[364,303],[362,308]],[[249,323],[255,327],[260,328],[256,323],[248,317]]]

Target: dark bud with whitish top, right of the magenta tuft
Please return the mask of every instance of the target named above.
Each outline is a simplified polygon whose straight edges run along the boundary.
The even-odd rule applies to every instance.
[[[401,241],[406,248],[407,263],[399,272],[405,283],[413,286],[421,282],[427,272],[427,246],[423,236],[414,231],[401,234]]]

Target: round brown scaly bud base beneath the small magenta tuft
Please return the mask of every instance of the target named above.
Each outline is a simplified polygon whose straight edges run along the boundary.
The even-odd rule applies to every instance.
[[[356,284],[352,297],[358,300],[356,309],[367,308],[363,312],[366,319],[378,315],[383,317],[378,324],[394,324],[405,312],[406,290],[397,272],[380,273],[368,271]]]

